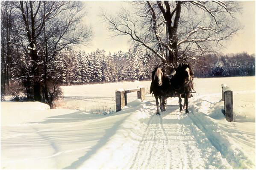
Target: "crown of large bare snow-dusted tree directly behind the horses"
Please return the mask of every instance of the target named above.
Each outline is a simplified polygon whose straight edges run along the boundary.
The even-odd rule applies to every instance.
[[[215,52],[237,33],[234,1],[135,1],[134,13],[102,13],[113,37],[128,35],[150,49],[163,63],[177,66],[188,58]]]

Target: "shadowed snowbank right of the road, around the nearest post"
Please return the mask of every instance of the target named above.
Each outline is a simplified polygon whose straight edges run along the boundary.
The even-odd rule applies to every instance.
[[[242,124],[238,123],[241,119],[235,118],[235,122],[231,123],[226,121],[222,113],[224,102],[217,102],[218,99],[218,96],[197,99],[191,107],[192,114],[189,117],[233,168],[255,167],[255,109],[245,110],[250,119],[243,118],[247,123],[241,126]],[[237,105],[234,105],[234,111],[236,108]]]

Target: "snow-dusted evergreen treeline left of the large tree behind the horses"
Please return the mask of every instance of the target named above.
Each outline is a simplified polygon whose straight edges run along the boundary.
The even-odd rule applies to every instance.
[[[106,54],[97,49],[91,53],[65,48],[52,66],[63,85],[120,82],[150,79],[152,68],[160,63],[143,48]]]

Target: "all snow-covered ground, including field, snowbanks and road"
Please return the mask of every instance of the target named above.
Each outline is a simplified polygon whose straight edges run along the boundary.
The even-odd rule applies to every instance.
[[[49,109],[40,102],[1,102],[2,169],[255,169],[255,77],[195,79],[190,114],[178,99],[156,116],[154,97],[115,90],[150,86],[122,82],[66,86]],[[222,109],[221,84],[233,91],[235,122]]]

